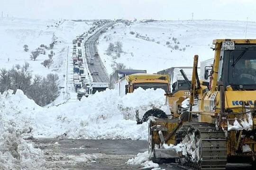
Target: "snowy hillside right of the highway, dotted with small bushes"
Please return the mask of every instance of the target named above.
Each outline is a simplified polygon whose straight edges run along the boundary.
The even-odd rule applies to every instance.
[[[247,38],[256,38],[256,23],[249,22]],[[200,61],[213,58],[210,49],[217,38],[245,38],[246,22],[219,20],[136,22],[130,26],[117,23],[99,39],[99,53],[109,74],[116,54],[107,55],[109,43],[122,42],[117,63],[126,68],[146,69],[148,73],[174,67],[192,66],[193,56]],[[176,43],[175,43],[176,42]],[[175,45],[177,45],[175,47]],[[176,48],[177,50],[175,50]]]

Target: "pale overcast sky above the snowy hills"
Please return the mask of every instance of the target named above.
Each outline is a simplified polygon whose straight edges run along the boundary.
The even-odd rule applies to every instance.
[[[256,21],[256,0],[0,0],[3,16],[44,19]]]

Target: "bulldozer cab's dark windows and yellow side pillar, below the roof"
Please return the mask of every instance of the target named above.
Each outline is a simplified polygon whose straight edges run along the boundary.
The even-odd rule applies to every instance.
[[[227,67],[225,67],[227,66]],[[233,90],[256,89],[256,44],[220,51],[218,82]]]

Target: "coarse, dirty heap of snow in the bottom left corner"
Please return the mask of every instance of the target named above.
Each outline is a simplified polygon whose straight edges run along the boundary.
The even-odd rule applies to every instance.
[[[43,152],[27,143],[15,126],[5,127],[0,117],[0,169],[31,170],[43,162]]]

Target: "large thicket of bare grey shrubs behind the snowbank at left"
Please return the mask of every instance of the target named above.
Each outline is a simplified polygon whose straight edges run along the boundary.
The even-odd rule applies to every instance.
[[[48,74],[46,77],[35,76],[32,81],[30,72],[24,69],[18,71],[14,68],[11,70],[0,70],[0,92],[3,93],[8,89],[16,92],[21,89],[29,98],[33,99],[40,106],[53,102],[59,95],[58,79],[56,74]]]

